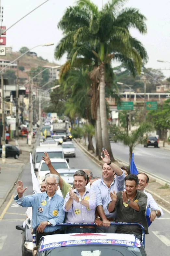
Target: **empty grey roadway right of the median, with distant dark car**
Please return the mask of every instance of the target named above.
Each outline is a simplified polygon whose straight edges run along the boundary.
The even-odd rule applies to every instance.
[[[129,148],[121,143],[111,142],[113,155],[129,162]],[[134,162],[144,169],[170,181],[170,150],[137,145],[134,149]]]

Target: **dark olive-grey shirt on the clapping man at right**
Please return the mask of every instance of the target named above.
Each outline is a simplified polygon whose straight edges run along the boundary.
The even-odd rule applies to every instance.
[[[140,208],[139,212],[130,207],[130,205],[123,202],[121,191],[118,192],[116,195],[117,201],[115,204],[115,211],[117,210],[118,214],[116,221],[141,223],[144,227],[145,234],[148,234],[148,223],[145,215],[148,200],[147,195],[142,191],[136,190],[136,196],[133,199],[133,202],[136,202],[138,204]],[[141,228],[139,226],[118,226],[117,232],[140,235]]]

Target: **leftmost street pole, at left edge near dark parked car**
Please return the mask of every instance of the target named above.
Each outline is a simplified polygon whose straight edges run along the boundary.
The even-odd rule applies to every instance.
[[[3,132],[2,132],[2,163],[6,162],[5,156],[5,111],[4,111],[4,78],[1,75],[1,91],[2,91],[2,125],[3,125]]]

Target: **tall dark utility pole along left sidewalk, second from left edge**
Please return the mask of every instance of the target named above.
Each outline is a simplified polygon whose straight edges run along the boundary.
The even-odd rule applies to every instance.
[[[15,145],[19,146],[19,118],[18,118],[18,110],[19,110],[19,60],[17,60],[17,85],[16,85],[16,128],[15,128]]]

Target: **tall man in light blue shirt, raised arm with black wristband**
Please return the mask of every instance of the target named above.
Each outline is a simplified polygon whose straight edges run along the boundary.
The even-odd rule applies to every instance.
[[[97,233],[115,233],[116,226],[110,226],[110,222],[115,222],[117,212],[109,213],[107,205],[111,201],[110,192],[117,193],[124,190],[124,172],[116,164],[110,161],[107,150],[104,150],[105,162],[102,167],[102,179],[92,183],[91,190],[96,192],[96,211],[98,216],[95,219]],[[114,178],[116,176],[116,178]]]

